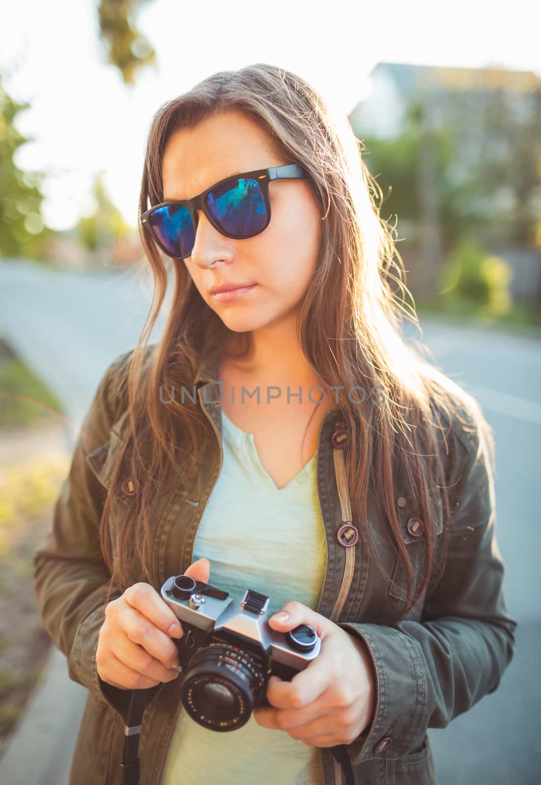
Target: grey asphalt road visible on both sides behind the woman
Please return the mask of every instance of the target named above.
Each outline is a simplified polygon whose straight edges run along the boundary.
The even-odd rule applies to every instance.
[[[58,276],[19,263],[0,264],[0,331],[65,400],[75,424],[86,412],[106,364],[137,342],[149,301],[148,289],[142,290],[131,272]],[[422,337],[408,330],[408,340],[422,338],[442,370],[477,397],[494,429],[496,532],[506,564],[507,604],[518,620],[517,652],[499,689],[456,717],[448,728],[430,730],[438,780],[441,785],[537,783],[541,340],[539,334],[460,327],[426,317],[422,329]],[[71,682],[67,685],[59,656],[53,658],[42,696],[36,696],[0,765],[2,782],[63,785],[68,781],[67,750],[75,743],[75,715],[86,691]],[[71,696],[69,708],[54,720],[49,717],[47,726],[44,717],[52,710],[58,712],[57,696],[66,689]],[[27,765],[35,751],[36,717],[41,717],[46,739],[43,750],[51,761],[57,760],[56,769],[49,761],[41,774],[28,772]],[[45,737],[44,727],[48,728]]]

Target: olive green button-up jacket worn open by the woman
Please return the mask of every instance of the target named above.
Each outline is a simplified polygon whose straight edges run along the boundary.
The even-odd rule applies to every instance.
[[[150,345],[148,352],[154,346]],[[98,633],[104,623],[111,579],[101,554],[98,527],[128,427],[126,390],[120,387],[116,371],[125,367],[132,352],[119,356],[101,379],[60,489],[53,528],[34,555],[35,594],[43,625],[68,658],[69,677],[89,690],[71,766],[72,785],[119,783],[130,692],[108,685],[97,674]],[[187,484],[172,484],[174,490],[157,500],[152,515],[151,568],[158,591],[170,575],[179,575],[192,564],[198,524],[221,471],[221,385],[213,384],[216,380],[217,364],[201,363],[197,395],[209,425],[199,469]],[[317,458],[327,571],[316,611],[367,644],[377,674],[371,725],[346,747],[354,781],[363,785],[435,783],[427,728],[444,728],[453,717],[494,692],[514,654],[517,622],[508,614],[503,594],[492,473],[475,432],[467,433],[458,419],[453,419],[448,455],[442,446],[453,510],[446,568],[414,610],[400,623],[386,626],[383,616],[403,604],[405,579],[397,569],[396,546],[389,540],[375,500],[368,499],[368,524],[383,575],[369,563],[364,533],[349,547],[337,537],[343,522],[351,521],[343,443],[340,439],[331,442],[333,434],[343,428],[341,412],[327,411],[320,425]],[[122,467],[111,503],[115,558],[128,501],[125,494],[133,491],[132,484],[126,482],[129,479],[126,467]],[[393,493],[404,543],[419,568],[423,538],[416,527],[408,525],[412,518],[419,518],[419,511],[400,477]],[[433,520],[423,523],[427,524],[441,535],[440,506],[434,506]],[[384,578],[385,573],[392,575],[390,581]],[[112,598],[119,596],[116,591]],[[181,683],[182,677],[178,677],[148,691],[139,748],[141,785],[160,783],[174,725],[183,710]],[[344,785],[344,770],[331,751],[317,749],[325,785]]]

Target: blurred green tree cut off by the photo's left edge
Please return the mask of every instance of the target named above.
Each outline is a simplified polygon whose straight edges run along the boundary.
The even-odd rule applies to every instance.
[[[16,166],[17,150],[33,137],[24,137],[15,126],[16,115],[30,104],[18,104],[5,92],[0,74],[0,255],[43,262],[43,249],[54,232],[41,215],[44,174],[23,172]]]

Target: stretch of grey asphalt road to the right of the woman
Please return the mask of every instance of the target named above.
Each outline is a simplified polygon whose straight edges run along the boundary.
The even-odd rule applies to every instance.
[[[541,340],[422,319],[442,370],[481,403],[495,436],[496,533],[517,651],[499,688],[430,739],[442,785],[539,783]]]

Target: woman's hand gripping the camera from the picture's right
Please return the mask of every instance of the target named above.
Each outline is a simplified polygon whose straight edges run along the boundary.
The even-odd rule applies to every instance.
[[[255,721],[313,747],[352,743],[375,710],[377,676],[366,644],[300,602],[288,602],[283,612],[289,619],[271,616],[272,630],[309,624],[321,638],[320,653],[291,681],[270,677],[271,706],[254,709]]]

